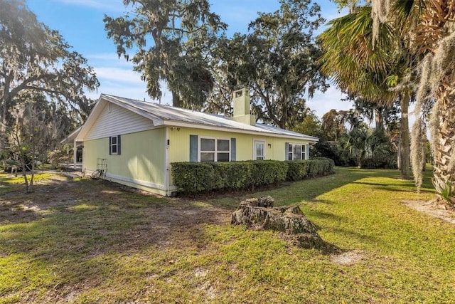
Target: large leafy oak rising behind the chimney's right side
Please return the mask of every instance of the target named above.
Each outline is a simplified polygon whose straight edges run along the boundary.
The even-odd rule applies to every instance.
[[[291,129],[304,119],[306,99],[327,87],[313,35],[323,18],[319,5],[310,0],[280,4],[277,11],[259,13],[250,33],[236,33],[219,43],[218,72],[229,88],[250,88],[252,111],[259,120]]]

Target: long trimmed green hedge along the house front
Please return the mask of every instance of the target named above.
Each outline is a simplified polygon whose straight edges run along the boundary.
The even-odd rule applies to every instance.
[[[186,193],[235,190],[333,173],[333,160],[173,162],[173,184]]]

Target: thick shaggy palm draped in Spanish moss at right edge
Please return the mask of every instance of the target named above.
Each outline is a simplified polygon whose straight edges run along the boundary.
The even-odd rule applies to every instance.
[[[431,112],[433,185],[451,205],[455,205],[455,1],[453,0],[372,0],[375,28],[391,23],[406,28],[412,37],[414,70],[419,70],[417,110],[422,117]],[[380,37],[380,36],[376,36]],[[430,110],[431,109],[431,110]],[[422,120],[413,127],[413,162],[422,163]],[[419,170],[414,169],[414,175]],[[422,179],[420,177],[417,177]]]

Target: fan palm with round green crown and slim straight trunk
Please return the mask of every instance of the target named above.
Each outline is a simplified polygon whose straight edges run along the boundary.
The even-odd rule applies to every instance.
[[[390,26],[381,23],[375,37],[372,7],[356,7],[353,11],[329,23],[320,38],[323,51],[321,61],[324,73],[331,75],[339,88],[349,95],[368,103],[390,106],[400,100],[402,110],[400,151],[402,179],[409,179],[409,123],[408,106],[412,91],[402,85],[390,90],[390,78],[401,76],[410,65],[402,36]],[[400,77],[402,78],[402,77]]]

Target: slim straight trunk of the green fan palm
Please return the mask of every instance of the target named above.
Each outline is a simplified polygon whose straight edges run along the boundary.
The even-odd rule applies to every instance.
[[[408,108],[410,97],[407,93],[400,96],[401,140],[400,140],[400,179],[410,179],[410,123]]]

